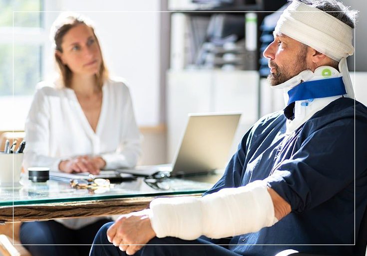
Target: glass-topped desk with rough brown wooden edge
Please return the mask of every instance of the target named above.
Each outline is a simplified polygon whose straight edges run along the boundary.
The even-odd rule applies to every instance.
[[[19,187],[0,187],[0,222],[49,220],[124,214],[145,209],[161,196],[200,196],[222,173],[192,177],[147,179],[76,189],[55,180],[33,183],[22,178]]]

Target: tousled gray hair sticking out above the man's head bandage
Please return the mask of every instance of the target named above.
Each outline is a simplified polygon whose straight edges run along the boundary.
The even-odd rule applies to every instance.
[[[336,0],[299,0],[299,1],[329,13],[330,15],[343,21],[352,28],[355,27],[358,11],[350,10],[349,9],[350,6],[344,5],[342,2]]]

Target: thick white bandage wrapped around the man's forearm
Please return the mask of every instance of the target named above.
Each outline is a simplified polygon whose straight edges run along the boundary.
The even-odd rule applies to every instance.
[[[256,232],[277,222],[267,184],[260,180],[201,198],[158,198],[150,203],[150,209],[158,238],[225,238]]]

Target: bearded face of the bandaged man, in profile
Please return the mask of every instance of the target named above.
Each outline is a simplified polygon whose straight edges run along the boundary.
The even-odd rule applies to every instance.
[[[265,49],[269,59],[271,86],[279,85],[307,69],[308,47],[289,36],[274,34],[274,41]]]

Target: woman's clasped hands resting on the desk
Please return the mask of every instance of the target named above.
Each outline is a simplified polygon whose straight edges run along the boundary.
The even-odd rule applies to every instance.
[[[102,157],[89,157],[87,155],[83,155],[61,161],[58,168],[60,171],[67,173],[89,172],[90,174],[96,175],[104,166],[106,166],[106,162]]]

